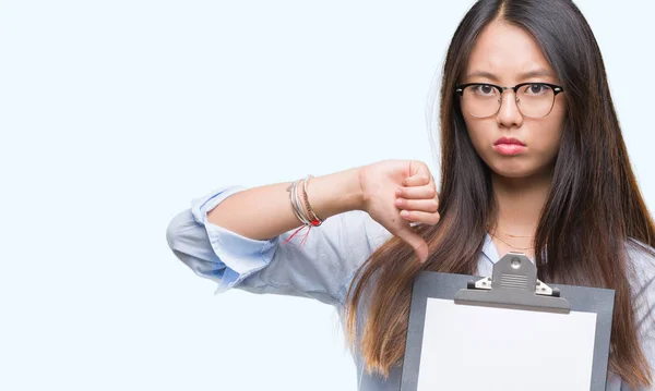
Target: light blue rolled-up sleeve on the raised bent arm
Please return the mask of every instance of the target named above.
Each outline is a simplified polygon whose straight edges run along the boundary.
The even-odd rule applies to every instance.
[[[349,280],[389,232],[359,210],[341,213],[286,240],[296,229],[258,241],[207,221],[207,212],[241,186],[195,198],[176,215],[166,236],[174,254],[198,276],[217,282],[216,293],[238,288],[343,303]]]

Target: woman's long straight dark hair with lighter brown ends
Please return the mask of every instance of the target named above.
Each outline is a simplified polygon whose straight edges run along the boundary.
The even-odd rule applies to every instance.
[[[460,23],[440,94],[441,220],[416,228],[428,243],[430,258],[416,261],[413,249],[397,237],[371,255],[355,276],[346,303],[350,342],[356,342],[356,319],[366,292],[359,349],[369,370],[389,374],[404,354],[414,277],[422,270],[476,271],[486,224],[496,218],[496,201],[489,168],[473,147],[453,89],[478,36],[499,19],[534,37],[565,89],[562,143],[535,239],[539,279],[616,290],[610,369],[632,387],[650,384],[626,245],[632,237],[653,246],[655,229],[630,167],[600,50],[569,0],[480,0]]]

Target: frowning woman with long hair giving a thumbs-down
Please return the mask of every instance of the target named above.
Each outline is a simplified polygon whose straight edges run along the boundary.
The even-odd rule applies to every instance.
[[[451,41],[440,98],[440,195],[427,166],[405,160],[224,187],[174,218],[170,247],[222,291],[336,306],[360,390],[398,388],[418,272],[489,276],[522,252],[541,281],[616,290],[607,390],[650,389],[655,227],[579,9],[477,2]]]

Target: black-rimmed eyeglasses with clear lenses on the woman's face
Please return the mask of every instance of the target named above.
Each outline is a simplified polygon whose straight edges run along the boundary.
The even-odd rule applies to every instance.
[[[513,87],[501,87],[489,83],[467,83],[455,87],[462,97],[462,109],[471,115],[486,118],[496,115],[502,105],[502,93],[514,91],[516,107],[524,117],[544,118],[555,106],[555,96],[564,88],[549,83],[521,83]]]

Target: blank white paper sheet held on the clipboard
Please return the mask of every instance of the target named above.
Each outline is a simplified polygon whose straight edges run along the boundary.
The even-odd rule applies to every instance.
[[[428,298],[418,391],[588,391],[595,313]]]

